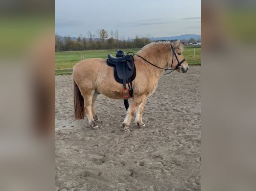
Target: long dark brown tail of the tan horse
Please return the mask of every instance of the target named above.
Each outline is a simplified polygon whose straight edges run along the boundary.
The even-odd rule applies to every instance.
[[[73,79],[73,85],[74,85],[75,119],[84,119],[85,117],[84,97],[81,94],[74,79]]]

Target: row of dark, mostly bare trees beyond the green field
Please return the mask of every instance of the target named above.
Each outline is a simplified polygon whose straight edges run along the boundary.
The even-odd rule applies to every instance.
[[[109,37],[109,38],[108,38]],[[176,40],[170,40],[176,41]],[[100,49],[126,49],[126,48],[142,48],[149,44],[149,38],[135,37],[132,41],[119,38],[118,30],[112,30],[110,36],[104,29],[98,30],[96,35],[88,31],[88,38],[80,34],[77,40],[72,40],[70,36],[65,36],[64,41],[59,37],[55,37],[55,51],[83,51],[83,50],[100,50]]]

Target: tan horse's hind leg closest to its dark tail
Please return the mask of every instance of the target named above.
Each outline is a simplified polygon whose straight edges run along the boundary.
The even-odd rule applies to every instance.
[[[93,119],[93,114],[92,114],[92,100],[93,100],[93,92],[83,95],[84,96],[84,101],[85,101],[85,111],[87,113],[87,118],[89,121],[89,126],[94,129],[97,130],[98,129],[98,125],[96,124],[96,122]]]

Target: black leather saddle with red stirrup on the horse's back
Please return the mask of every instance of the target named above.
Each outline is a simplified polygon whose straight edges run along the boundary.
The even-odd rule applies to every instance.
[[[131,55],[125,55],[124,51],[116,52],[116,57],[108,54],[107,65],[114,68],[114,77],[116,82],[123,84],[122,97],[132,97],[132,81],[136,77],[136,68]],[[129,89],[126,88],[128,84]],[[128,95],[124,95],[127,92]]]

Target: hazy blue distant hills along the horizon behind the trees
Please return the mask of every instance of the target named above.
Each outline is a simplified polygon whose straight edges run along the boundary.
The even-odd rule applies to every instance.
[[[55,35],[55,37],[58,37],[61,41],[64,41],[64,37],[60,35]],[[175,40],[175,39],[185,39],[189,40],[190,38],[194,38],[196,41],[199,39],[201,41],[201,35],[193,35],[193,34],[185,34],[180,36],[173,36],[173,37],[152,37],[149,38],[151,41],[157,41],[157,40]],[[71,37],[73,41],[76,41],[76,37]],[[129,41],[133,41],[134,39],[129,39]]]

